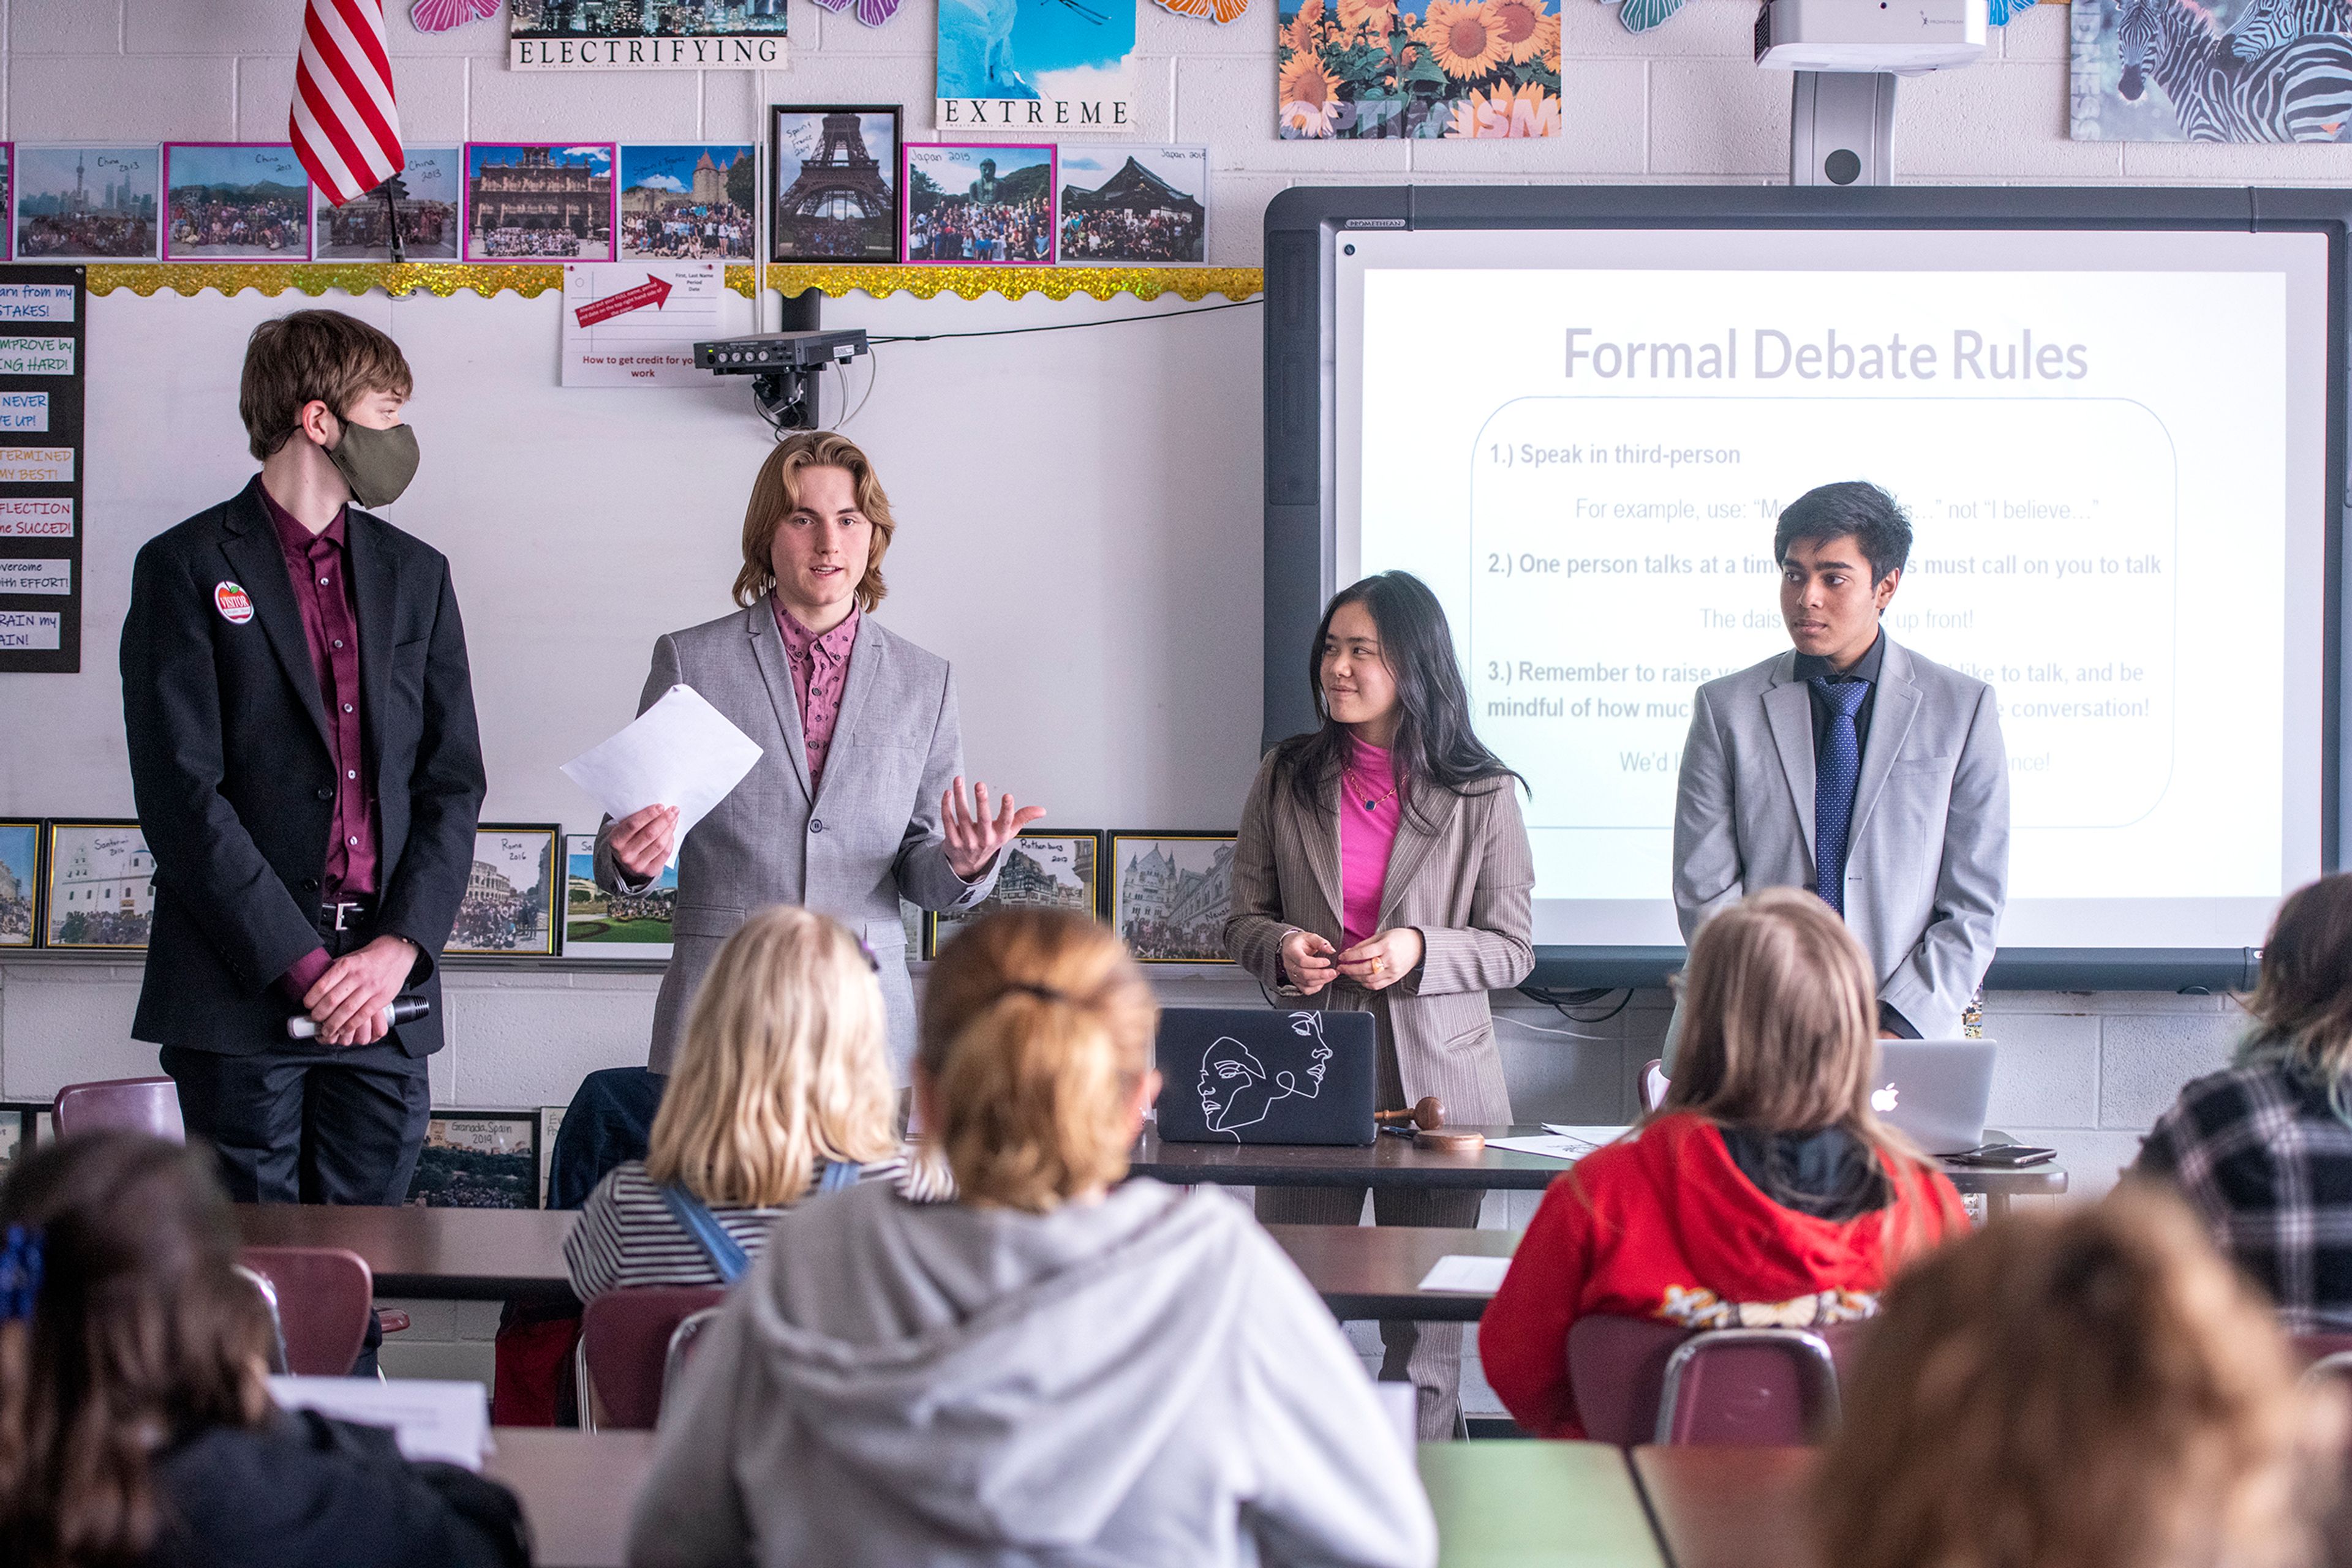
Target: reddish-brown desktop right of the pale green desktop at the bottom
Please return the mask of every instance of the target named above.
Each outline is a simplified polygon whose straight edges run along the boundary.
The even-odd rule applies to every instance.
[[[1813,1568],[1811,1448],[1635,1448],[1675,1568]]]

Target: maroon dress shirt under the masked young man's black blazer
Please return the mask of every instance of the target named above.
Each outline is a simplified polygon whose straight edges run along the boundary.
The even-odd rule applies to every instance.
[[[313,534],[294,512],[261,489],[261,505],[278,527],[278,545],[287,557],[294,604],[301,607],[303,642],[310,644],[310,668],[318,672],[318,698],[327,710],[327,752],[334,757],[334,832],[327,839],[327,867],[320,877],[320,903],[343,903],[376,891],[376,780],[367,766],[360,731],[367,719],[360,698],[360,614],[350,590],[350,550],[343,520],[334,515]],[[280,987],[299,1001],[327,973],[327,950],[318,947],[280,978]]]

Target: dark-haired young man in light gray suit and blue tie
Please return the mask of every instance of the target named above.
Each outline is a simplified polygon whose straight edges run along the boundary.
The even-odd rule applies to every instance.
[[[1813,889],[1870,954],[1879,1037],[1950,1039],[2002,926],[2009,759],[1992,686],[1879,630],[1910,543],[1893,496],[1858,480],[1780,512],[1797,646],[1691,703],[1675,914],[1689,940],[1745,893]]]

